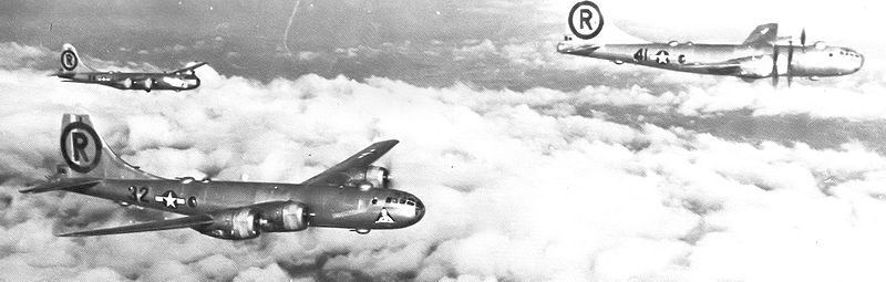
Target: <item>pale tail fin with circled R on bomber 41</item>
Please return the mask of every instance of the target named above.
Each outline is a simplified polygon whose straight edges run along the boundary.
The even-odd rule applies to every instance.
[[[602,9],[595,2],[580,1],[569,10],[567,20],[571,35],[566,35],[557,50],[570,48],[599,48],[605,43],[649,43],[618,29],[615,22],[606,21]]]

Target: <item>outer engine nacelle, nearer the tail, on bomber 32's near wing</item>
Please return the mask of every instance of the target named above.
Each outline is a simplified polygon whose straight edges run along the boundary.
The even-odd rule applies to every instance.
[[[213,223],[207,227],[194,228],[200,233],[215,238],[243,240],[258,237],[261,216],[254,208],[219,210],[209,213]]]

